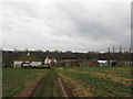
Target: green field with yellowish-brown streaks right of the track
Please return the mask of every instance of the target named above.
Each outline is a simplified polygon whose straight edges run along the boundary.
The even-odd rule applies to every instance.
[[[133,80],[131,67],[66,67],[58,69],[59,74],[69,79],[66,82],[76,81],[88,89],[91,97],[130,97]],[[74,85],[68,85],[74,88]],[[74,89],[73,89],[74,90]],[[80,92],[73,94],[80,97]],[[83,88],[82,88],[83,91]]]

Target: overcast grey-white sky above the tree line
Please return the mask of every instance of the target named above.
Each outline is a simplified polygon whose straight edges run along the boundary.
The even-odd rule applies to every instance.
[[[32,2],[31,2],[32,1]],[[2,48],[104,52],[131,46],[129,0],[4,0]]]

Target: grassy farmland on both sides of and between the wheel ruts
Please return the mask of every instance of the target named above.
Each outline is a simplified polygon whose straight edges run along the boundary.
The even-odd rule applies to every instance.
[[[18,96],[42,75],[37,97],[64,97],[59,78],[73,97],[131,97],[131,67],[3,68],[3,97]]]

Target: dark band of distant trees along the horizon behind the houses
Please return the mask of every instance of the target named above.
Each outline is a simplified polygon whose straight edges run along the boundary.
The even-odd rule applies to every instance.
[[[121,51],[121,50],[120,50]],[[61,52],[61,51],[2,51],[2,62],[10,66],[13,61],[18,57],[25,56],[28,53],[34,55],[38,58],[44,61],[47,56],[57,58],[57,59],[76,59],[76,58],[86,58],[86,59],[106,59],[106,61],[133,61],[133,53],[131,52],[113,52],[110,50],[105,53],[99,52],[88,52],[88,53],[73,53],[71,51]]]

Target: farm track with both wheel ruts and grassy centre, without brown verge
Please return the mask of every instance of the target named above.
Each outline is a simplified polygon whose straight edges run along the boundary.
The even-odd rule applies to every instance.
[[[40,86],[35,97],[72,97],[55,69],[51,69]]]

